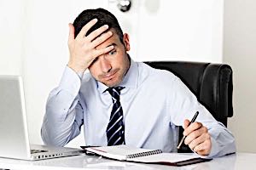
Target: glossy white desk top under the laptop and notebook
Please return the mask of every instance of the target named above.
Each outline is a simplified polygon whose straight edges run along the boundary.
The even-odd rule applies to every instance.
[[[56,169],[114,169],[114,170],[152,170],[152,169],[256,169],[256,154],[237,153],[230,156],[215,158],[212,161],[202,162],[183,167],[164,165],[149,165],[125,161],[112,161],[96,156],[70,156],[43,161],[20,161],[0,158],[0,169],[26,169],[26,170],[56,170]]]

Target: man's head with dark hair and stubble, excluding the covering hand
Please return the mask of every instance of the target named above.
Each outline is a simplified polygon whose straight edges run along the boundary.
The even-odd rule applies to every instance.
[[[89,67],[90,74],[97,81],[102,82],[108,87],[118,86],[119,83],[123,81],[130,66],[130,58],[127,54],[127,51],[130,50],[129,36],[127,33],[123,33],[118,20],[113,14],[106,9],[96,8],[84,10],[74,20],[73,26],[75,28],[75,37],[77,37],[82,28],[93,19],[97,19],[97,22],[86,32],[84,37],[87,37],[101,26],[108,25],[107,31],[112,31],[113,36],[98,45],[96,49],[113,46],[113,50],[107,54],[98,56],[93,61]]]

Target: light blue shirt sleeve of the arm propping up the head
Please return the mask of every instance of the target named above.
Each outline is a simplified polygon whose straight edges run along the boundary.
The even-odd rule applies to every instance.
[[[44,144],[64,146],[79,135],[83,125],[80,87],[81,75],[66,67],[60,85],[50,92],[47,100],[41,128]]]

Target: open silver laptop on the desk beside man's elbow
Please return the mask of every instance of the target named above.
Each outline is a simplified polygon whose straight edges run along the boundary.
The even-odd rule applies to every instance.
[[[30,144],[22,78],[0,76],[0,157],[42,160],[81,153],[81,149]]]

